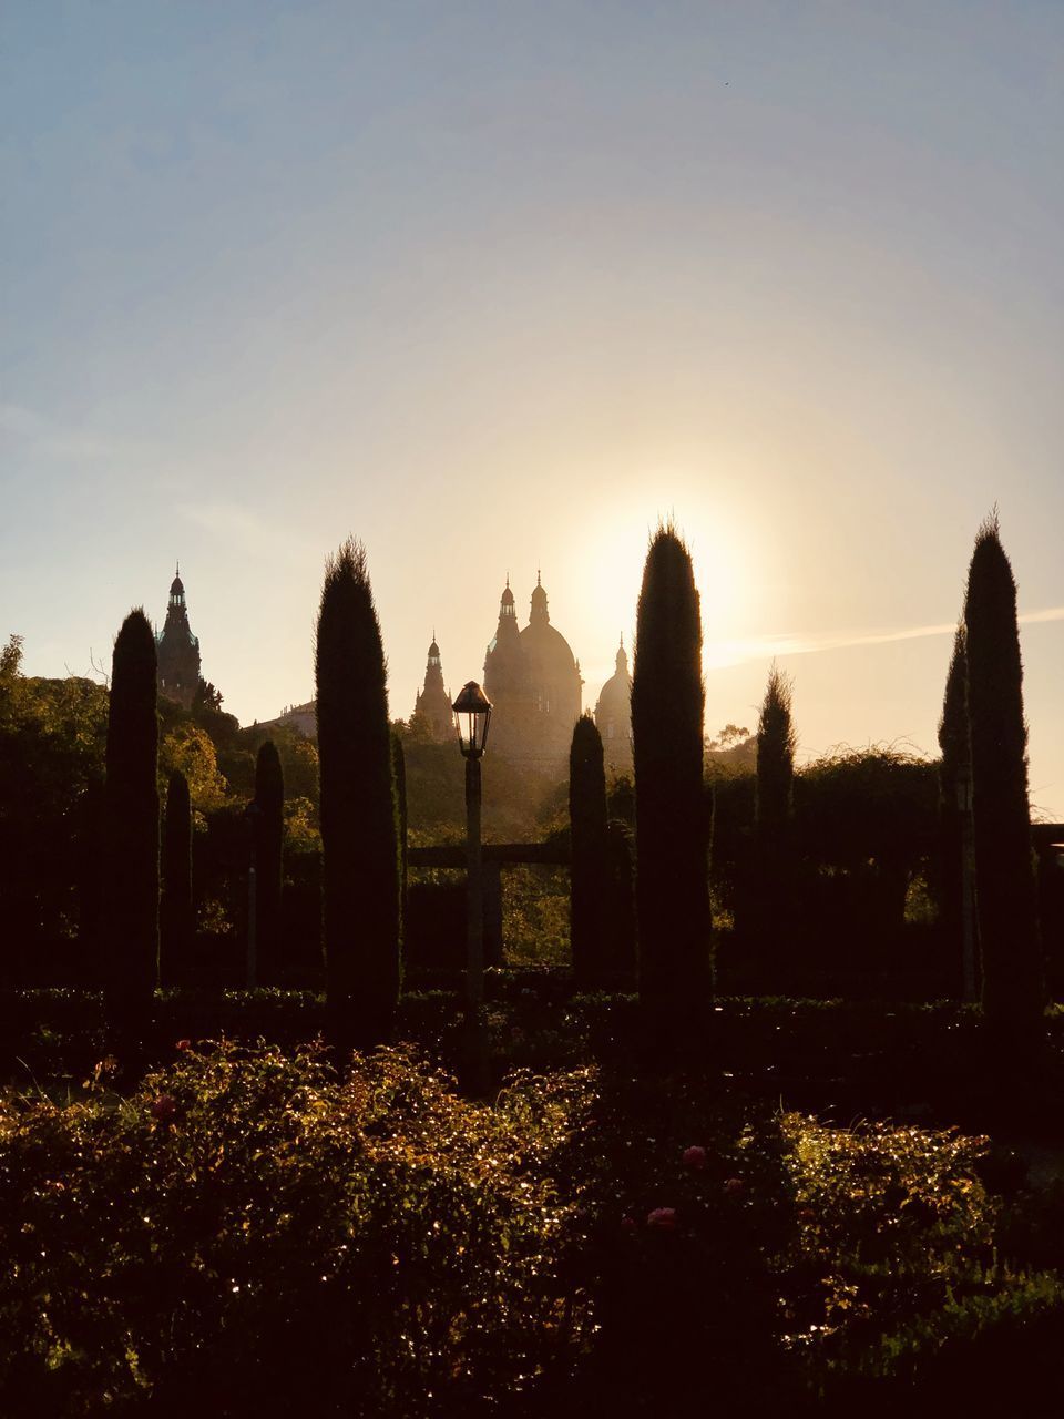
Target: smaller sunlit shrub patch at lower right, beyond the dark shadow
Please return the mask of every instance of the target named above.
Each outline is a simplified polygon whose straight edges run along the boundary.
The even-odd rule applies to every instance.
[[[1002,1202],[980,1181],[987,1139],[796,1114],[783,1132],[799,1222],[783,1259],[786,1345],[809,1386],[843,1412],[865,1402],[861,1386],[887,1402],[888,1384],[983,1405],[1002,1368],[1014,1405],[1031,1382],[1017,1338],[1037,1337],[1029,1348],[1043,1361],[1064,1342],[1064,1281],[1026,1274],[999,1249]],[[996,1355],[987,1374],[985,1354]]]

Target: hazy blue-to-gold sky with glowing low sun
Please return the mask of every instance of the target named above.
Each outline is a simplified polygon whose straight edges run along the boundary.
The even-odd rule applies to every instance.
[[[542,569],[593,707],[672,517],[706,729],[935,749],[997,504],[1064,820],[1064,7],[0,4],[0,634],[180,559],[241,722],[366,546],[396,717]]]

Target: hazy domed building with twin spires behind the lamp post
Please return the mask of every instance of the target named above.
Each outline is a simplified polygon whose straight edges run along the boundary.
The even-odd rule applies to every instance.
[[[492,748],[505,758],[546,772],[569,762],[573,725],[580,718],[580,663],[550,624],[548,596],[536,576],[529,622],[518,630],[506,578],[499,620],[484,658],[484,690],[492,702]]]

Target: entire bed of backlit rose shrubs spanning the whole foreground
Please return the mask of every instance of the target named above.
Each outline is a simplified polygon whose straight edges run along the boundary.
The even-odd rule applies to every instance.
[[[982,1139],[712,1077],[485,1104],[400,1050],[170,1056],[0,1101],[3,1415],[854,1413],[1064,1342],[1060,1276],[1012,1260],[1055,1266],[1064,1208],[1004,1225]]]

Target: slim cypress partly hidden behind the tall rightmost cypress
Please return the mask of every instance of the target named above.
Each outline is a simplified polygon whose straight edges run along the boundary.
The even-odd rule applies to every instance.
[[[973,934],[975,902],[970,900],[970,812],[962,796],[970,796],[972,746],[968,732],[968,651],[965,627],[958,626],[946,674],[942,718],[938,725],[939,761],[939,911],[942,934],[953,975],[965,998],[975,992],[975,961],[965,961],[965,921]],[[966,900],[966,897],[969,900]]]

